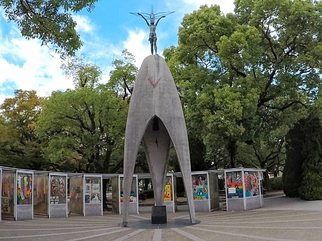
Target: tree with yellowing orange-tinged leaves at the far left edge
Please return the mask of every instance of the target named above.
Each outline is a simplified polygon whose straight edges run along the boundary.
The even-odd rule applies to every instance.
[[[35,134],[42,102],[36,91],[15,90],[14,97],[1,104],[1,165],[34,170],[47,168],[41,156],[42,143]]]

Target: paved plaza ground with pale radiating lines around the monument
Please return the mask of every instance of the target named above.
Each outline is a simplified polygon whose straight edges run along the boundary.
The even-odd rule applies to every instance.
[[[190,225],[187,209],[167,214],[168,223],[151,224],[151,207],[140,207],[129,215],[126,228],[122,216],[38,218],[0,224],[0,241],[321,241],[322,201],[303,201],[285,196],[264,199],[253,211],[196,213],[198,224]],[[141,209],[142,208],[142,209]]]

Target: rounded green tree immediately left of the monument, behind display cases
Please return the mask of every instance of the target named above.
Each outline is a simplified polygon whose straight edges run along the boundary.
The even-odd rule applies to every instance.
[[[44,101],[37,122],[39,137],[48,141],[45,158],[59,170],[114,173],[122,155],[112,161],[110,157],[122,149],[128,105],[98,83],[101,73],[96,66],[75,58],[66,68],[73,70],[68,73],[75,90],[54,92]]]

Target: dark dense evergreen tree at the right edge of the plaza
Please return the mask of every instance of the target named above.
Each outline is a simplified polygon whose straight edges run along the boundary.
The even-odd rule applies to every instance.
[[[310,115],[294,125],[286,138],[286,162],[283,171],[286,196],[306,200],[322,199],[321,107],[315,103]]]

